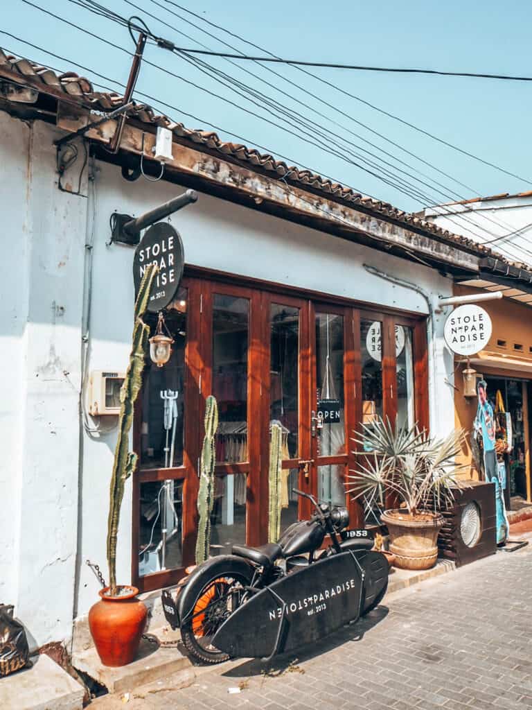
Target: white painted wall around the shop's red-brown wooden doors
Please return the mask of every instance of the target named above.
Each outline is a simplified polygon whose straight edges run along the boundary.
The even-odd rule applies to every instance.
[[[6,270],[4,283],[11,288],[3,288],[6,296],[0,299],[0,437],[2,451],[9,452],[1,464],[0,494],[13,511],[10,522],[0,519],[0,564],[9,570],[0,576],[0,594],[17,604],[18,616],[42,644],[67,638],[72,615],[87,613],[96,601],[98,584],[85,560],[106,569],[116,431],[84,431],[78,456],[84,240],[92,233],[94,217],[89,370],[124,370],[133,316],[133,249],[106,246],[109,216],[115,209],[140,214],[182,190],[142,178],[126,182],[118,168],[98,163],[95,200],[92,192],[89,199],[65,195],[55,186],[54,129],[35,124],[30,146],[31,129],[0,114],[0,136],[7,184],[0,200],[8,226],[1,239],[4,253],[18,260],[16,269]],[[85,184],[83,191],[87,195]],[[182,234],[189,264],[419,313],[428,312],[423,296],[368,274],[363,264],[416,284],[431,294],[433,303],[452,290],[450,280],[424,266],[208,195],[200,194],[172,223]],[[53,303],[64,310],[53,311]],[[452,381],[452,365],[443,355],[442,334],[438,315],[432,390],[438,414],[432,425],[440,434],[454,422],[453,391],[444,382],[445,377]],[[102,418],[101,426],[109,422]],[[130,580],[128,484],[118,581]]]

